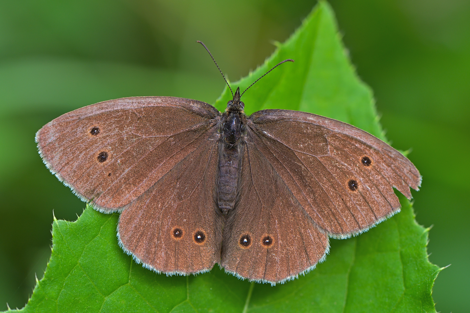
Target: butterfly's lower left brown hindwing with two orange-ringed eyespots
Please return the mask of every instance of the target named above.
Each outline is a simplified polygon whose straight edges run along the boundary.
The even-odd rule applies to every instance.
[[[218,137],[214,129],[205,144],[120,214],[119,243],[144,266],[172,275],[205,272],[219,262]]]

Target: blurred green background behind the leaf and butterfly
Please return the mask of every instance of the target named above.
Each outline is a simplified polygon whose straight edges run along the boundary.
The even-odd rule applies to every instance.
[[[49,174],[34,134],[72,109],[129,96],[214,103],[313,8],[307,0],[0,1],[0,310],[23,307],[50,255],[53,212],[85,203]],[[416,220],[433,297],[470,311],[470,1],[332,0],[345,46],[375,93],[387,137],[423,175]]]

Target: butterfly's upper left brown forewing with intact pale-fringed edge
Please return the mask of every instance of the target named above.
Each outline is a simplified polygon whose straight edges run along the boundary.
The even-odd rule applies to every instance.
[[[123,98],[64,114],[36,141],[47,167],[78,197],[120,211],[205,143],[218,120],[201,101]]]

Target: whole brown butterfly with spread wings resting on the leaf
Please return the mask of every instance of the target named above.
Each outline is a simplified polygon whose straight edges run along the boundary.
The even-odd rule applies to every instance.
[[[305,112],[246,116],[240,97],[223,113],[173,97],[104,101],[47,123],[36,141],[79,198],[121,212],[124,251],[167,275],[219,263],[285,282],[325,258],[329,237],[397,213],[392,187],[418,190],[415,166],[371,134]]]

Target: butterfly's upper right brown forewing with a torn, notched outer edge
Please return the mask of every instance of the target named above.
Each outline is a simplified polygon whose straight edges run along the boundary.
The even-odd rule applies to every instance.
[[[248,122],[253,143],[310,218],[349,237],[399,210],[392,187],[411,198],[421,176],[401,153],[352,125],[290,110],[262,110]]]

